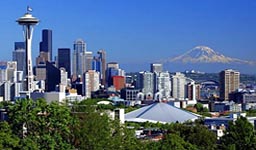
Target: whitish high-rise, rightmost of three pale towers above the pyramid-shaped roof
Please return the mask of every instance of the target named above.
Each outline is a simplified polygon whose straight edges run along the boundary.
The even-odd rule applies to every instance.
[[[185,99],[186,77],[180,72],[176,72],[171,78],[172,81],[172,97],[175,99]]]

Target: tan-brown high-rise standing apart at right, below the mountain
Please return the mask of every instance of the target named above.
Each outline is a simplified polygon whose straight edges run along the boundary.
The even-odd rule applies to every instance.
[[[219,73],[220,99],[228,100],[229,93],[237,90],[240,84],[240,72],[226,69]]]

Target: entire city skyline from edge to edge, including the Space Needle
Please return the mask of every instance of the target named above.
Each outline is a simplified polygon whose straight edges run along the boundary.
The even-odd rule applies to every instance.
[[[127,105],[168,101],[186,108],[204,100],[202,91],[209,94],[215,90],[217,100],[225,103],[214,101],[208,106],[212,111],[225,111],[227,105],[237,109],[236,104],[243,110],[256,107],[254,90],[240,89],[238,71],[223,70],[219,81],[213,83],[198,83],[180,72],[169,73],[160,63],[150,64],[150,71],[126,74],[117,62],[107,62],[105,50],[93,54],[82,39],[74,41],[72,49],[58,48],[53,58],[50,29],[42,30],[39,54],[32,66],[32,27],[39,20],[28,11],[17,22],[23,26],[25,42],[14,43],[12,61],[0,62],[0,97],[4,101],[24,97],[48,101],[109,98]]]

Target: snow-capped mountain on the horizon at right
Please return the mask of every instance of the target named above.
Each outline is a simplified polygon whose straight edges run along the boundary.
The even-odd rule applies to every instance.
[[[237,58],[226,57],[207,46],[196,46],[195,48],[187,51],[186,53],[165,60],[164,62],[176,63],[223,63],[223,64],[250,64],[255,62],[241,60]]]

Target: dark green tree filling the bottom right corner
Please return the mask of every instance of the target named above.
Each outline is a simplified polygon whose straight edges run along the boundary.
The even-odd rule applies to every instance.
[[[253,125],[245,117],[240,117],[235,122],[229,122],[225,135],[221,138],[221,148],[256,149],[256,136]]]

